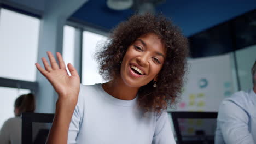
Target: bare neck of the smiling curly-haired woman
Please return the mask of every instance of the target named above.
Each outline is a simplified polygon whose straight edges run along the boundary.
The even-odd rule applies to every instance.
[[[129,87],[120,78],[103,83],[102,87],[109,95],[121,100],[132,100],[136,97],[139,87]]]

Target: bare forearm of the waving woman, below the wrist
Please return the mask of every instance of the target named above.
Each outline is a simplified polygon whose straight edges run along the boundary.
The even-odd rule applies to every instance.
[[[48,135],[47,144],[67,143],[69,124],[75,109],[75,104],[68,100],[57,101],[53,125]]]

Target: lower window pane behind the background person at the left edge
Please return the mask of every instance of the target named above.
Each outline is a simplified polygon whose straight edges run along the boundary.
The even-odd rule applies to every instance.
[[[22,94],[30,93],[28,89],[0,87],[1,100],[0,100],[0,128],[3,123],[11,117],[14,117],[14,101]]]

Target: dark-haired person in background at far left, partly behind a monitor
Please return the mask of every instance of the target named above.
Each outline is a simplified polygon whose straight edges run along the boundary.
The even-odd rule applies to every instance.
[[[35,100],[32,93],[20,95],[14,103],[15,117],[4,122],[0,130],[1,144],[21,143],[21,114],[24,112],[34,112]]]

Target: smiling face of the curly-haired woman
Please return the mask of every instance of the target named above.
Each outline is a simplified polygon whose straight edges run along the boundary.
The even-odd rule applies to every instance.
[[[156,34],[142,35],[125,53],[121,64],[121,79],[129,87],[147,85],[153,79],[156,80],[165,56],[165,46]]]

